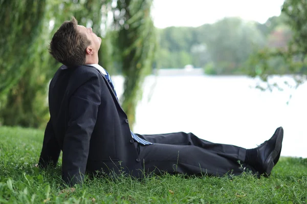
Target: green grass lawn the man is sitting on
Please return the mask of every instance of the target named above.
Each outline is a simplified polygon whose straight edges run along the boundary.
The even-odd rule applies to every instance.
[[[307,160],[281,157],[269,178],[163,175],[86,179],[62,193],[61,168],[38,161],[43,131],[0,127],[0,203],[307,203]],[[61,161],[59,161],[59,165]]]

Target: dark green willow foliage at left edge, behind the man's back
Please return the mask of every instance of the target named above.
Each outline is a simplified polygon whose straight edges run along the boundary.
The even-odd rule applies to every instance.
[[[5,125],[38,127],[48,113],[48,81],[42,73],[48,58],[43,52],[46,1],[2,1],[0,8],[5,36],[0,38],[0,116]]]

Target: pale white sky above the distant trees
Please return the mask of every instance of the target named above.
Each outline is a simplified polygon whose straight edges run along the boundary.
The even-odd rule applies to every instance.
[[[153,0],[152,18],[157,28],[198,27],[229,16],[260,23],[280,14],[284,0]]]

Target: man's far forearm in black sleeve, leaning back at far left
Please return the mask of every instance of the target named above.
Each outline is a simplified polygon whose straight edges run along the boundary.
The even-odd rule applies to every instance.
[[[48,165],[56,166],[60,152],[61,149],[55,139],[52,122],[50,119],[45,129],[38,166],[41,168],[46,168]]]

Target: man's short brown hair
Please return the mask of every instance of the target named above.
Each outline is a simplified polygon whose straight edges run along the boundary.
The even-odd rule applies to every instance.
[[[49,46],[50,54],[68,67],[84,65],[85,50],[91,44],[86,35],[77,30],[77,26],[78,21],[75,17],[64,21],[53,35]]]

